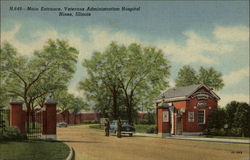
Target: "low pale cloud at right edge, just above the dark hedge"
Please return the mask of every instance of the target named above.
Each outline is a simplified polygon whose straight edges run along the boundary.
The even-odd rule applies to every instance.
[[[239,83],[242,79],[249,77],[249,66],[242,68],[239,71],[234,71],[228,75],[223,76],[223,80],[226,83],[226,86]]]

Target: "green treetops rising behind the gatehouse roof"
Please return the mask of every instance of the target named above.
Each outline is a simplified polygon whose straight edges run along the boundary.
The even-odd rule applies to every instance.
[[[214,88],[215,90],[220,90],[224,87],[222,74],[213,67],[200,67],[199,73],[197,74],[195,69],[185,65],[179,70],[175,83],[177,87],[200,83],[205,84],[209,88]]]

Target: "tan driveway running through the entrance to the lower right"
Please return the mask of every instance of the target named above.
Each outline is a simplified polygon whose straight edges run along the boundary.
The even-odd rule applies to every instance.
[[[249,144],[162,139],[105,137],[87,125],[57,128],[58,140],[72,146],[76,160],[237,160],[249,157]]]

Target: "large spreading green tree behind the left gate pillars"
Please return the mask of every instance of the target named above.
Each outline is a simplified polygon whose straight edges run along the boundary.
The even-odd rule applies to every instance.
[[[14,54],[11,49],[7,51]],[[8,73],[8,94],[21,98],[29,114],[37,105],[37,99],[45,99],[49,93],[67,88],[74,73],[77,54],[78,51],[66,41],[48,40],[43,49],[35,51],[31,58],[14,56],[5,69]]]

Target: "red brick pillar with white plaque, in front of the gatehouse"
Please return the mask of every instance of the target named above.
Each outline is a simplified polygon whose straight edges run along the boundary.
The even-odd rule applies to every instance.
[[[166,117],[164,117],[166,116]],[[168,108],[157,108],[157,129],[162,137],[170,136],[170,111]]]

